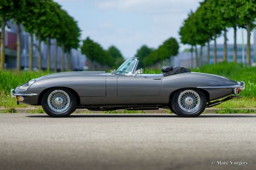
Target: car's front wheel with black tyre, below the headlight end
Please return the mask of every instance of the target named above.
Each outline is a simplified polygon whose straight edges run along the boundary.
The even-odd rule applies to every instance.
[[[66,117],[76,110],[76,98],[66,88],[52,88],[41,100],[42,109],[52,117]]]

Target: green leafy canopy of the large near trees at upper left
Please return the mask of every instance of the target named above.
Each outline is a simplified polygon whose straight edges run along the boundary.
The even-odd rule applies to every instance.
[[[23,24],[31,35],[36,34],[38,47],[41,40],[46,41],[49,38],[56,39],[66,52],[79,47],[81,31],[77,22],[52,0],[3,0],[0,1],[0,16],[4,21],[1,25],[5,26],[6,21],[12,18],[18,26]],[[17,45],[20,43],[17,42]],[[38,54],[40,52],[38,48]],[[4,54],[1,53],[1,56],[3,57]]]

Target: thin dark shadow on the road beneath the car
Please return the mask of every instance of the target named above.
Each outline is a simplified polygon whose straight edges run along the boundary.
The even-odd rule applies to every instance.
[[[49,117],[51,118],[50,116],[48,115],[30,115],[30,116],[26,116],[26,117]],[[68,117],[63,117],[63,118],[81,118],[81,117],[174,117],[174,118],[184,118],[184,117],[179,117],[177,115],[174,115],[174,114],[170,114],[170,115],[157,115],[157,114],[152,114],[152,115],[118,115],[118,114],[113,114],[113,115],[109,115],[109,114],[102,114],[102,115],[93,115],[93,114],[90,114],[90,115],[86,115],[86,114],[74,114],[74,115],[70,115]],[[207,115],[200,115],[198,117],[191,117],[191,118],[211,118],[211,117],[220,117],[220,118],[232,118],[232,117],[255,117],[256,118],[256,114],[248,114],[248,115],[210,115],[210,114],[207,114]]]

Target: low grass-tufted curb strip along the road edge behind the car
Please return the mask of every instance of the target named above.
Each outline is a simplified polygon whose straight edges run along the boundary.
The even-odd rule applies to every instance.
[[[117,110],[117,112],[123,113],[124,110]],[[249,112],[249,113],[256,113],[256,108],[206,108],[204,113],[206,114],[216,114],[216,113],[222,113],[222,111],[230,111],[233,113],[241,113],[243,112]],[[0,113],[42,113],[41,107],[29,107],[29,108],[0,108]],[[115,113],[115,111],[113,111]],[[170,113],[168,109],[159,109],[159,110],[138,110],[138,112],[143,113],[154,113],[154,114],[166,114]],[[75,113],[102,113],[102,111],[89,111],[88,109],[77,109]],[[111,111],[110,111],[111,113]]]

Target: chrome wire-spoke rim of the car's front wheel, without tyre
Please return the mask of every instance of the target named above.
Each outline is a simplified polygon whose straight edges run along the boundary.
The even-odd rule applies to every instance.
[[[64,112],[70,104],[70,98],[64,90],[54,90],[47,100],[48,106],[54,112]]]

